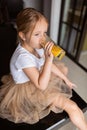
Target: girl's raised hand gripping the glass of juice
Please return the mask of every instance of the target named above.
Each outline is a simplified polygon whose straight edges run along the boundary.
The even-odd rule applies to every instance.
[[[45,45],[45,59],[47,61],[52,61],[53,60],[53,54],[51,52],[52,50],[52,47],[53,47],[53,42],[47,42],[46,45]]]

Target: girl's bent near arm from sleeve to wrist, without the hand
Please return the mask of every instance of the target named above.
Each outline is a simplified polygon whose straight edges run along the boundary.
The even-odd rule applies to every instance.
[[[45,62],[41,72],[39,72],[35,67],[25,68],[23,71],[37,88],[45,90],[50,79],[51,68],[52,63]]]

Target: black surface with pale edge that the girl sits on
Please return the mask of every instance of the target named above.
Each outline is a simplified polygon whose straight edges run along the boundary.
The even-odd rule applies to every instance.
[[[81,108],[83,112],[87,110],[87,103],[75,91],[73,91],[73,97],[71,99],[78,104],[78,106]],[[62,127],[69,121],[69,117],[65,111],[58,114],[51,112],[48,116],[46,116],[45,118],[41,119],[38,123],[33,125],[25,123],[15,124],[6,119],[0,118],[0,130],[52,130],[52,128],[55,128],[56,126],[57,128]]]

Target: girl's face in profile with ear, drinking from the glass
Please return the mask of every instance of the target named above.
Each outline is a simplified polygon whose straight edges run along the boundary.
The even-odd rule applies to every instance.
[[[30,39],[29,39],[29,33],[26,34],[27,44],[33,49],[42,48],[41,40],[45,37],[47,30],[48,30],[48,24],[46,23],[46,21],[44,19],[38,21],[32,32]]]

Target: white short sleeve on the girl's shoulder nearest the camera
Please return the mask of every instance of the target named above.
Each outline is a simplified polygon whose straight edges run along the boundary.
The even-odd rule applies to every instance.
[[[21,54],[17,57],[15,66],[17,69],[21,70],[23,68],[28,67],[36,67],[35,59],[32,56],[25,54]]]

